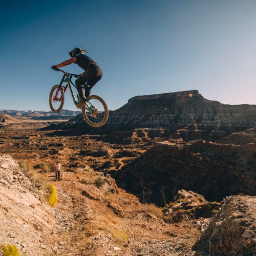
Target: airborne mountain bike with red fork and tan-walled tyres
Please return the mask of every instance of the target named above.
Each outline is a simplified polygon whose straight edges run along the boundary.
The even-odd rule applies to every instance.
[[[72,77],[79,77],[79,75],[67,73],[63,70],[57,69],[56,71],[60,71],[63,73],[62,79],[59,84],[53,86],[49,96],[49,104],[52,112],[58,113],[63,108],[63,104],[65,101],[65,92],[67,88],[69,88],[71,97],[73,99],[74,104],[80,102],[80,97],[77,94],[77,98],[75,98],[74,93],[72,91],[72,87],[75,87],[75,84],[72,82]],[[62,83],[66,82],[66,86]],[[83,84],[83,89],[86,84]],[[82,116],[84,121],[86,121],[89,125],[93,127],[100,127],[106,123],[109,118],[109,110],[108,106],[106,105],[105,101],[97,96],[97,95],[90,95],[86,98],[86,102],[84,105],[81,106]]]

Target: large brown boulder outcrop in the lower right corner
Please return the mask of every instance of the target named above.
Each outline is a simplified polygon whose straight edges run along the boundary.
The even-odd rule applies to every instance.
[[[256,197],[231,196],[195,244],[196,255],[255,255]]]

